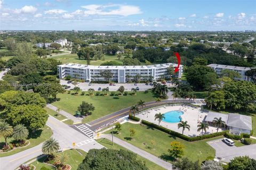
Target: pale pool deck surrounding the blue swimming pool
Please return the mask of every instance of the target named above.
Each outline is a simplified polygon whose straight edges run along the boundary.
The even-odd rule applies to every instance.
[[[181,118],[183,121],[187,121],[188,125],[190,125],[190,131],[188,131],[188,129],[185,129],[184,135],[187,135],[190,137],[201,135],[202,131],[197,132],[197,129],[198,129],[197,125],[199,122],[202,122],[204,120],[204,117],[207,115],[207,113],[197,108],[193,108],[189,106],[167,106],[167,107],[161,107],[158,109],[147,110],[137,115],[137,117],[158,125],[158,120],[155,120],[155,114],[158,114],[159,112],[161,112],[161,114],[165,114],[166,112],[174,111],[174,110],[183,111],[184,114],[181,115]],[[169,128],[175,132],[182,133],[182,128],[178,129],[178,124],[179,123],[166,123],[163,121],[160,123],[160,125],[163,127]],[[221,132],[222,130],[225,130],[225,129],[219,128],[219,132]],[[217,127],[209,126],[209,129],[207,129],[206,133],[203,132],[203,134],[210,134],[215,132],[217,132]]]

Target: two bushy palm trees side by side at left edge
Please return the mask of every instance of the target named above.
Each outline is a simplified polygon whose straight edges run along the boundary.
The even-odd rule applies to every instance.
[[[6,122],[0,122],[0,136],[4,137],[5,146],[8,148],[7,137],[12,136],[14,140],[17,140],[21,143],[28,138],[29,131],[28,129],[22,125],[18,124],[12,128]]]

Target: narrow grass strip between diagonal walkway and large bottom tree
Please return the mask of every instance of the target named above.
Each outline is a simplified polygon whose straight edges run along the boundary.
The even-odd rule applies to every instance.
[[[111,141],[107,140],[107,139],[98,139],[96,140],[98,143],[102,144],[104,147],[108,148],[108,149],[116,149],[116,150],[127,150],[126,148],[122,147],[121,145],[118,145],[116,143],[114,143],[113,145],[111,144]],[[128,150],[130,151],[130,150]],[[131,152],[131,151],[130,151]],[[162,168],[161,166],[151,162],[150,160],[143,158],[139,155],[137,155],[137,159],[142,161],[143,164],[145,164],[149,170],[164,170],[165,168]]]

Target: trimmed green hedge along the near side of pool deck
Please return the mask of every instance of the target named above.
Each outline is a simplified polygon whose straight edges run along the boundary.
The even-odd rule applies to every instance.
[[[141,123],[144,124],[144,125],[156,128],[159,131],[163,131],[163,132],[168,133],[170,135],[174,135],[176,137],[179,137],[180,139],[183,139],[183,140],[186,140],[186,141],[189,141],[189,142],[209,139],[209,138],[216,137],[216,136],[221,136],[221,135],[224,135],[226,132],[228,132],[228,131],[222,131],[222,132],[207,134],[207,135],[203,135],[203,136],[189,137],[189,136],[186,136],[186,135],[182,135],[181,133],[178,133],[178,132],[172,131],[170,129],[167,129],[165,127],[158,126],[154,123],[150,123],[146,120],[141,120]]]

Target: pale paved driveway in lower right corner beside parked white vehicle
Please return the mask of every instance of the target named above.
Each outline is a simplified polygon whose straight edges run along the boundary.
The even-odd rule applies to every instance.
[[[216,150],[215,157],[222,158],[222,161],[229,162],[234,157],[249,156],[256,159],[256,144],[245,145],[243,147],[230,147],[226,143],[222,142],[222,139],[207,142],[212,148]]]

